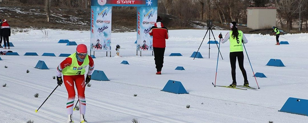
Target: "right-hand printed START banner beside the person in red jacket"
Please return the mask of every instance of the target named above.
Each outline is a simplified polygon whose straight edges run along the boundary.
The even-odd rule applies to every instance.
[[[137,51],[153,50],[149,32],[157,19],[157,7],[137,7]]]

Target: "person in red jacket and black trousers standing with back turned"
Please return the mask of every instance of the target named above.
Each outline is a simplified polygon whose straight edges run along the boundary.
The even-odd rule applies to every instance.
[[[166,39],[169,38],[168,29],[164,27],[160,16],[154,26],[152,26],[149,34],[153,36],[154,60],[156,65],[156,74],[161,74],[161,69],[164,63],[164,53],[166,48]]]

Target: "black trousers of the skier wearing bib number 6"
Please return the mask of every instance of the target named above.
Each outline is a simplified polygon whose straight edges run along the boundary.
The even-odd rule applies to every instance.
[[[243,51],[240,51],[240,52],[230,52],[230,63],[231,63],[231,73],[232,73],[233,83],[236,83],[236,78],[235,78],[236,58],[238,60],[238,65],[240,66],[240,69],[242,71],[244,82],[246,82],[248,80],[247,80],[246,70],[244,69],[244,54]]]

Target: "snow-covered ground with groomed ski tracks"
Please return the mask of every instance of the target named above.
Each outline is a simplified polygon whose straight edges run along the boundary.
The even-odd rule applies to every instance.
[[[20,56],[1,56],[0,116],[3,123],[64,123],[67,119],[67,92],[60,86],[37,109],[56,87],[56,67],[63,57],[23,56],[26,52],[74,53],[75,46],[57,43],[69,39],[78,44],[89,44],[89,31],[47,30],[44,38],[41,30],[15,33],[10,41],[11,50]],[[112,34],[112,57],[105,52],[96,52],[95,69],[103,70],[111,81],[91,81],[86,89],[89,123],[129,123],[133,118],[140,123],[306,123],[308,117],[278,112],[289,97],[308,99],[308,55],[307,34],[287,34],[290,45],[275,46],[275,37],[270,35],[245,34],[246,44],[254,72],[264,73],[268,78],[257,78],[261,89],[237,90],[213,87],[215,80],[217,46],[211,45],[210,59],[208,35],[201,46],[203,59],[189,58],[197,51],[206,30],[170,30],[167,40],[162,75],[155,75],[152,52],[136,56],[136,33]],[[227,31],[213,30],[215,36]],[[212,35],[211,35],[212,37]],[[217,37],[215,37],[217,39]],[[280,38],[281,41],[285,40]],[[212,37],[213,39],[213,37]],[[211,40],[212,40],[211,39]],[[115,56],[115,45],[121,48]],[[3,49],[0,49],[3,50]],[[169,57],[170,53],[181,53],[182,57]],[[229,63],[229,42],[221,44],[217,85],[232,82]],[[108,53],[109,55],[109,53]],[[286,67],[272,67],[265,64],[271,59],[281,59]],[[35,69],[38,60],[46,62],[49,70]],[[120,64],[123,60],[130,65]],[[247,56],[244,66],[250,85],[257,87]],[[4,66],[8,68],[4,68]],[[185,71],[174,70],[183,66]],[[26,73],[29,69],[30,73]],[[173,94],[160,91],[168,80],[181,81],[189,94]],[[237,67],[238,85],[243,77]],[[39,93],[39,98],[34,94]],[[138,96],[134,97],[134,94]],[[77,101],[77,98],[76,98]],[[75,103],[76,103],[75,101]],[[203,103],[203,104],[201,104]],[[191,108],[186,109],[186,105]],[[74,120],[79,122],[79,112],[74,111]]]

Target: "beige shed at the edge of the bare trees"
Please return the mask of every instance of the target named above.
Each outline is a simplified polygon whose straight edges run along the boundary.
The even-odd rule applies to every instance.
[[[248,7],[247,27],[251,29],[264,29],[276,26],[275,7]]]

